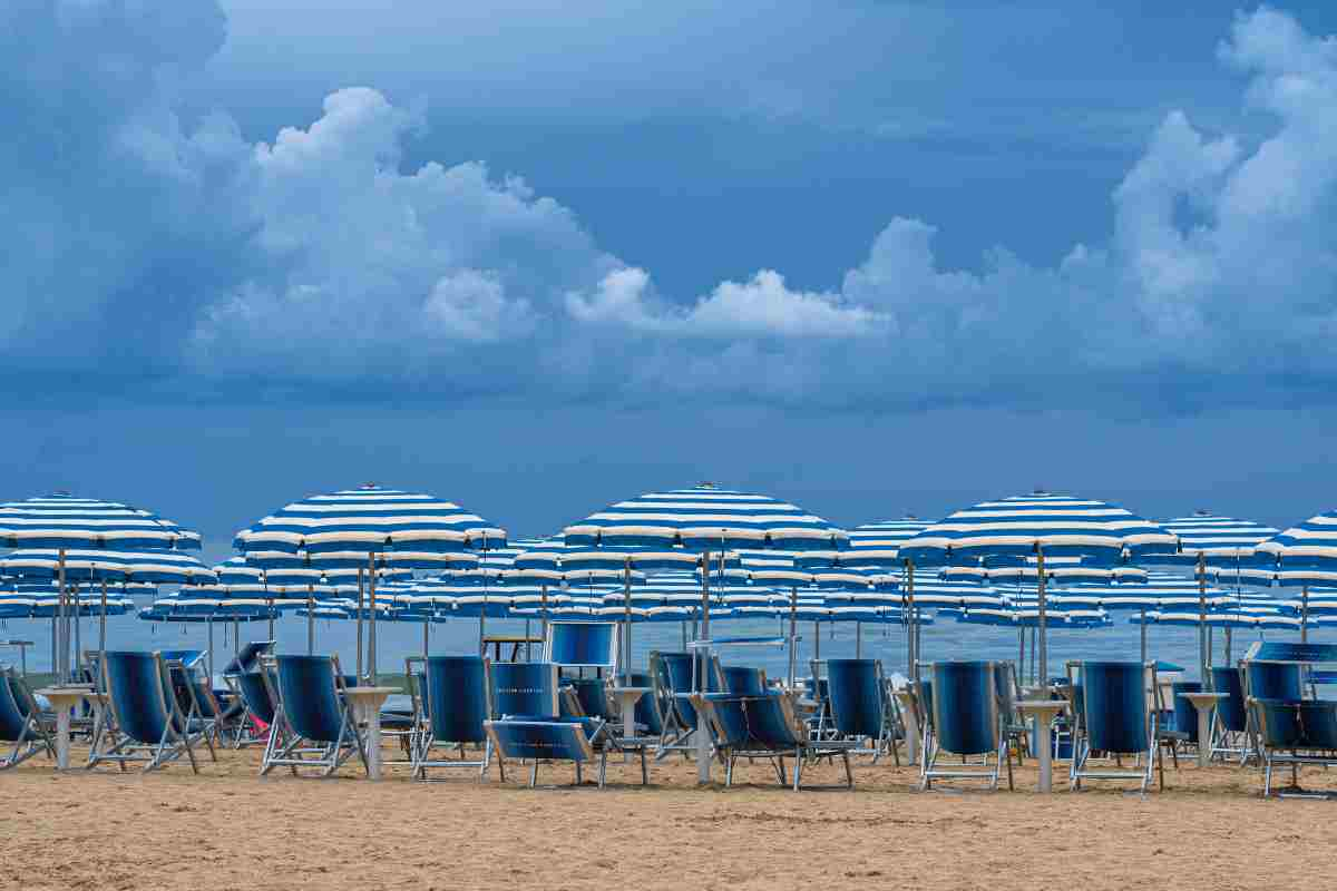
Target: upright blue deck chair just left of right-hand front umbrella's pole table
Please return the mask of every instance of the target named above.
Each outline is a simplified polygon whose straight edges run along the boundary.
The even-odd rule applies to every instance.
[[[924,743],[920,789],[933,787],[936,779],[983,779],[989,789],[999,785],[1003,761],[1007,760],[1008,788],[1012,788],[1012,756],[999,708],[996,664],[988,661],[933,663],[929,695],[931,732]],[[943,753],[964,759],[983,756],[983,767],[968,763],[940,767]],[[991,765],[992,756],[992,765]]]

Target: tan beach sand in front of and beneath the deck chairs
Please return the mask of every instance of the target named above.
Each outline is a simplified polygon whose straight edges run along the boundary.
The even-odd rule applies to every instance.
[[[393,752],[385,748],[386,756]],[[76,749],[78,753],[78,749]],[[1296,888],[1337,884],[1337,804],[1262,800],[1255,769],[1167,768],[1144,799],[1104,784],[1035,793],[919,793],[912,768],[858,759],[854,792],[694,788],[678,757],[610,763],[610,788],[528,789],[465,772],[381,783],[255,776],[257,749],[142,775],[0,773],[3,888]],[[588,775],[587,775],[588,776]],[[717,768],[717,779],[722,772]],[[570,783],[545,767],[540,783]],[[805,781],[840,783],[840,767]],[[1056,777],[1059,779],[1059,777]],[[1337,772],[1304,781],[1337,789]],[[751,785],[755,783],[757,785]],[[1126,785],[1123,785],[1126,788]]]

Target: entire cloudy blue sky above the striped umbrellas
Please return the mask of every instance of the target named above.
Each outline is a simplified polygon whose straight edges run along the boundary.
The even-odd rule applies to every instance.
[[[1328,5],[366,5],[0,0],[7,498],[1333,506]]]

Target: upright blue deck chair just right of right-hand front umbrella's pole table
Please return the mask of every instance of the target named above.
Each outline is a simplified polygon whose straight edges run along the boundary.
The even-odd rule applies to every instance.
[[[1148,684],[1150,676],[1150,684]],[[1139,792],[1151,784],[1154,763],[1165,788],[1165,756],[1157,743],[1155,665],[1142,663],[1080,663],[1082,733],[1072,756],[1071,787],[1082,780],[1139,780]],[[1136,755],[1136,771],[1091,769],[1092,752]]]

